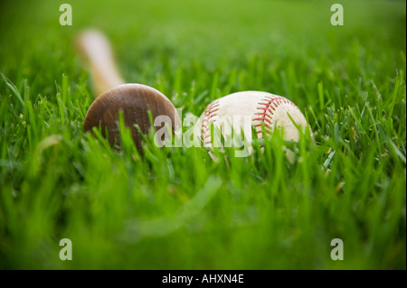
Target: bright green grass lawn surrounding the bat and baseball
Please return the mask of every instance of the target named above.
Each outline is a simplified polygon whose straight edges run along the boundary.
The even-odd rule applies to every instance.
[[[0,4],[1,269],[406,268],[404,1],[69,1],[71,26],[62,3]],[[290,144],[293,163],[279,135],[217,162],[152,137],[140,154],[126,133],[110,148],[83,131],[94,98],[72,40],[88,27],[183,116],[268,91],[316,144]]]

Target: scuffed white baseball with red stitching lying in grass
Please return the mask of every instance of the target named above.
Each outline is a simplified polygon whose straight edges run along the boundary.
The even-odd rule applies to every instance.
[[[299,132],[296,125],[303,129],[303,133],[308,126],[305,116],[289,99],[267,92],[241,91],[216,99],[209,104],[194,125],[194,135],[200,135],[204,145],[211,146],[211,124],[222,129],[223,136],[232,132],[229,128],[231,125],[236,133],[240,133],[246,131],[243,129],[244,116],[251,119],[251,126],[255,127],[259,138],[263,137],[262,125],[264,125],[265,131],[270,134],[276,127],[283,127],[284,140],[298,141]],[[245,138],[251,142],[251,133],[245,134]]]

